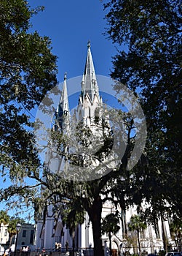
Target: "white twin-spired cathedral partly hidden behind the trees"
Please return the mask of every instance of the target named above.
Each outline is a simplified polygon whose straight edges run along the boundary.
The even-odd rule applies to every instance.
[[[90,129],[95,129],[93,125],[92,116],[98,116],[100,109],[103,108],[103,99],[100,97],[99,84],[95,74],[95,67],[92,60],[92,53],[90,49],[90,42],[87,44],[87,58],[84,67],[84,74],[81,83],[81,94],[78,99],[78,105],[75,110],[76,118],[82,121],[85,125],[90,127]],[[54,129],[63,129],[64,132],[68,132],[69,127],[69,102],[68,102],[68,91],[67,91],[67,78],[66,75],[63,81],[63,89],[60,95],[60,103],[58,109],[55,113],[55,120],[59,118],[59,121],[55,122]],[[64,121],[62,116],[65,116]],[[54,161],[53,161],[54,160]],[[45,159],[49,161],[49,159]],[[50,161],[50,169],[58,169],[63,165],[63,159],[52,159]],[[106,202],[103,205],[102,217],[106,217],[107,214],[115,211],[114,206],[111,202]],[[121,211],[121,209],[118,209]],[[116,235],[111,236],[113,255],[124,255],[126,252],[137,253],[135,245],[132,244],[133,233],[129,233],[130,241],[124,238],[124,225],[130,222],[130,217],[137,214],[135,207],[128,209],[122,216],[124,221],[121,219],[120,230]],[[164,227],[162,229],[162,226]],[[162,231],[163,230],[163,231]],[[146,230],[141,234],[141,252],[154,253],[159,252],[159,250],[164,249],[162,242],[163,232],[167,237],[167,241],[173,244],[172,238],[170,237],[170,229],[168,222],[159,222],[157,227],[152,227],[148,225]],[[108,255],[108,236],[104,234],[102,237],[103,249],[105,255]],[[55,216],[52,212],[52,205],[48,206],[46,217],[39,217],[36,223],[36,248],[46,249],[51,252],[56,249],[62,251],[66,248],[72,247],[72,238],[70,236],[69,230],[63,225],[61,216],[59,215],[55,221]],[[88,214],[85,214],[84,223],[76,227],[75,230],[75,248],[80,253],[79,255],[92,255],[87,254],[93,247],[93,237],[92,237],[92,227],[90,225]],[[99,255],[98,255],[99,256]]]

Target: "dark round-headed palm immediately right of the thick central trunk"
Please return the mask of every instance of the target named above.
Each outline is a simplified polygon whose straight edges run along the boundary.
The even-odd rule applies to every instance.
[[[108,233],[110,255],[112,255],[111,233],[115,235],[119,231],[120,227],[118,224],[119,217],[115,214],[106,215],[102,222],[102,233]]]

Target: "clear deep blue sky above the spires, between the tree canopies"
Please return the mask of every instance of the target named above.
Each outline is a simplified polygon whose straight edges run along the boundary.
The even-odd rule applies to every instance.
[[[44,12],[31,19],[33,30],[52,39],[52,53],[58,56],[58,81],[64,73],[74,78],[82,75],[87,55],[87,42],[91,42],[92,58],[97,75],[108,76],[111,56],[116,48],[103,35],[106,14],[100,0],[29,0],[31,7],[44,5]]]

